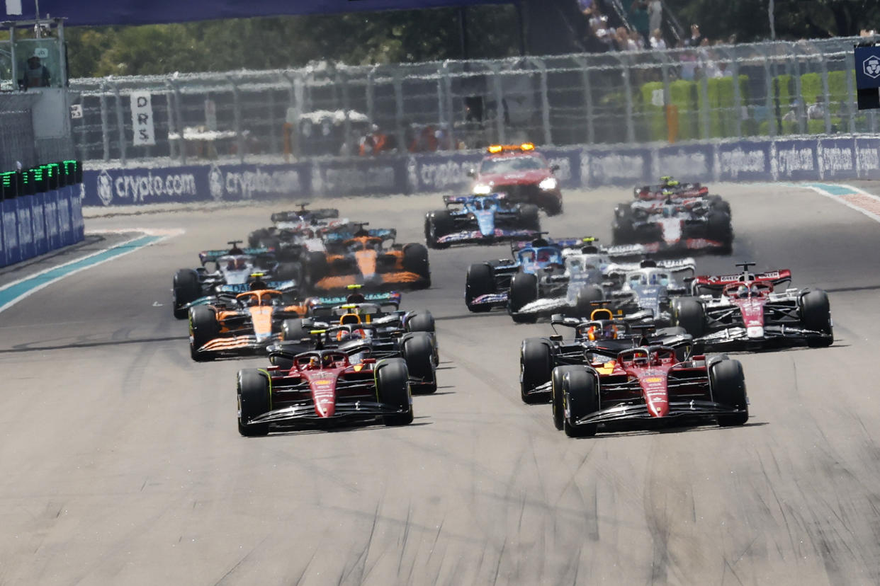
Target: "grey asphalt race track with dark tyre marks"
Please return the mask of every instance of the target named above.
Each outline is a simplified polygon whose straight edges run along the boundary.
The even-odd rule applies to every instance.
[[[283,206],[117,216],[186,234],[0,313],[0,584],[880,582],[880,225],[796,187],[727,185],[735,261],[831,295],[831,348],[742,355],[752,418],[568,439],[518,396],[549,325],[469,315],[468,264],[431,252],[440,389],[404,428],[241,438],[235,373],[195,364],[173,272]],[[610,238],[627,189],[568,192],[554,235]],[[325,200],[422,241],[439,197]],[[163,304],[158,307],[158,304]]]

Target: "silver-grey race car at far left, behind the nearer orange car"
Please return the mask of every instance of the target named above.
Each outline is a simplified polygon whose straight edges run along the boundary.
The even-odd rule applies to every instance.
[[[279,263],[275,252],[264,248],[240,249],[240,240],[229,242],[228,250],[203,250],[202,266],[180,269],[172,281],[172,312],[182,320],[189,315],[188,304],[215,294],[218,286],[246,285],[254,273],[278,281],[300,285],[302,267],[298,263]],[[239,291],[240,293],[240,291]]]

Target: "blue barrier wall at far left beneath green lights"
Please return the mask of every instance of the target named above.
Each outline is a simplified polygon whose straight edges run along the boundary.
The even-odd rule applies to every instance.
[[[0,266],[20,263],[84,238],[79,185],[0,201]]]

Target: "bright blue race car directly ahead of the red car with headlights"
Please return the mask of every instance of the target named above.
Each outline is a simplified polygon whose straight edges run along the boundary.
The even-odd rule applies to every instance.
[[[511,204],[503,193],[444,195],[446,209],[425,216],[425,242],[432,249],[452,244],[497,244],[528,240],[541,230],[538,206]]]

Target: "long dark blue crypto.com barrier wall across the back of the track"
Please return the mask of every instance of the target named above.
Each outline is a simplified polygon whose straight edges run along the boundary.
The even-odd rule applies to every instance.
[[[674,145],[542,148],[564,189],[689,181],[880,179],[880,138],[823,137]],[[85,206],[465,191],[482,153],[291,164],[205,164],[84,171]]]

